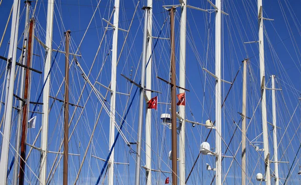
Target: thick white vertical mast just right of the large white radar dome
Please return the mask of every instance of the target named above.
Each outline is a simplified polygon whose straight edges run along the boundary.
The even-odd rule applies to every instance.
[[[215,1],[215,6],[217,7],[216,17],[215,17],[215,75],[217,77],[215,83],[215,148],[216,148],[216,184],[222,184],[222,117],[221,117],[221,0]]]

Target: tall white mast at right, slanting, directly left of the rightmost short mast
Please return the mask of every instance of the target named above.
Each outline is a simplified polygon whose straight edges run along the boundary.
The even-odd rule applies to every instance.
[[[263,18],[262,18],[262,0],[257,0],[258,8],[258,42],[259,42],[259,63],[260,63],[260,82],[261,82],[261,116],[262,116],[262,136],[263,136],[263,149],[265,160],[265,181],[270,185],[270,169],[269,169],[269,156],[268,156],[268,135],[267,135],[267,120],[266,120],[266,98],[265,98],[265,72],[264,72],[264,47],[263,47]]]

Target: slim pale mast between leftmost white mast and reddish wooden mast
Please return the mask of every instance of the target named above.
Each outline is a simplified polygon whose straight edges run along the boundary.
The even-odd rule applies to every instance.
[[[27,58],[27,40],[28,40],[28,22],[29,22],[29,8],[31,3],[26,3],[26,18],[25,18],[25,29],[24,29],[24,40],[23,40],[23,51],[22,51],[22,64],[26,65],[26,58]],[[21,68],[21,80],[20,80],[20,93],[19,97],[24,96],[24,73],[25,68]],[[20,109],[23,107],[23,102],[19,100],[19,107]],[[19,175],[19,152],[20,152],[20,136],[21,136],[21,123],[22,123],[22,112],[19,112],[19,119],[18,119],[18,125],[17,125],[17,132],[16,132],[16,159],[14,162],[14,174],[13,174],[13,183],[17,184],[18,181],[18,175]]]

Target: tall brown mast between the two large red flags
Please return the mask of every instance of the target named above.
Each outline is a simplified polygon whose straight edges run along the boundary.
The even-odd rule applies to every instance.
[[[176,55],[175,55],[175,7],[170,9],[171,14],[171,96],[172,96],[172,169],[173,185],[178,184],[177,169],[177,106],[176,106]]]

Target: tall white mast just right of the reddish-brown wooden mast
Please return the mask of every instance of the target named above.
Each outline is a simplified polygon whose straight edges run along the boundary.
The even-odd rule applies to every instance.
[[[40,184],[46,184],[47,180],[47,145],[48,145],[48,122],[49,122],[49,88],[50,88],[50,66],[52,58],[52,33],[53,33],[53,12],[54,0],[48,0],[47,8],[47,27],[46,27],[46,61],[44,66],[44,82],[43,90],[43,122],[41,135],[41,164],[40,164]]]

